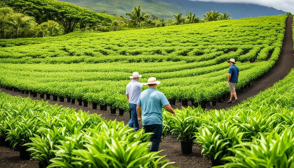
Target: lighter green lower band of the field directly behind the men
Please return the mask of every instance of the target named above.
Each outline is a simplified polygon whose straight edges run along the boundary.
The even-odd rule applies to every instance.
[[[272,55],[271,59],[278,57]],[[221,63],[206,67],[198,67],[201,64],[179,64],[166,62],[167,67],[157,67],[157,73],[149,71],[146,67],[141,82],[147,82],[148,77],[154,76],[162,81],[158,89],[166,97],[177,100],[202,100],[211,101],[228,94],[228,85],[225,83],[228,72],[228,63]],[[112,63],[113,64],[113,63]],[[108,105],[119,109],[128,110],[128,100],[125,96],[125,87],[129,82],[128,64],[119,64],[117,71],[99,71],[107,64],[1,64],[3,76],[0,84],[4,87],[14,87],[19,90],[36,92],[38,94],[52,94],[59,97],[70,97],[76,100],[84,100],[89,103]],[[157,66],[158,63],[154,63]],[[164,64],[164,63],[162,63]],[[237,65],[242,72],[237,89],[241,90],[264,74],[275,64],[275,61],[245,62]],[[185,68],[187,69],[180,70]],[[87,67],[90,67],[89,69]],[[138,64],[140,66],[140,64]],[[178,67],[178,71],[172,71],[172,67]],[[96,70],[97,67],[97,70]],[[153,64],[150,64],[152,69]],[[126,71],[123,72],[123,69]],[[191,68],[191,69],[189,69]],[[144,71],[144,69],[142,69]],[[169,71],[170,70],[170,71]],[[166,71],[166,72],[165,72]],[[210,84],[207,87],[207,84]],[[146,89],[146,87],[143,87]]]

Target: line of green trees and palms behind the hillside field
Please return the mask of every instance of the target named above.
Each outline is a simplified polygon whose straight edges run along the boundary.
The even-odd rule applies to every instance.
[[[126,16],[114,17],[56,0],[0,1],[0,38],[58,36],[74,31],[106,32],[231,19],[230,14],[210,11],[203,19],[181,13],[173,19],[158,18],[134,7]]]

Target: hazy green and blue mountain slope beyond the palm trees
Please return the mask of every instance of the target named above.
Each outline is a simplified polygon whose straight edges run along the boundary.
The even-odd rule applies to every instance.
[[[173,14],[181,12],[185,15],[192,11],[197,16],[203,13],[218,10],[221,13],[228,12],[234,19],[280,15],[286,12],[269,8],[266,6],[254,4],[238,4],[238,3],[215,3],[200,2],[189,0],[60,0],[75,4],[77,6],[86,7],[94,11],[106,11],[109,14],[125,15],[130,12],[136,5],[141,5],[143,11],[147,14],[154,14],[163,19],[172,18]]]

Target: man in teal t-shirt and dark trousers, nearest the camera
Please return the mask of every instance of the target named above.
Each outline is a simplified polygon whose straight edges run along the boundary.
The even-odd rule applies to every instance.
[[[173,108],[169,104],[166,96],[156,90],[156,86],[160,84],[160,81],[156,81],[156,78],[151,77],[148,79],[148,89],[144,90],[137,102],[137,114],[138,120],[141,121],[145,132],[153,132],[150,137],[152,142],[149,152],[158,151],[159,143],[161,142],[162,135],[162,107],[164,107],[168,112],[176,115]],[[142,107],[142,115],[141,115]]]

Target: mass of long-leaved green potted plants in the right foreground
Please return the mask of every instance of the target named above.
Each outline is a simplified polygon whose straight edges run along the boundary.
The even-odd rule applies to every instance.
[[[164,112],[163,135],[202,144],[218,167],[292,167],[294,70],[257,96],[227,110]]]

